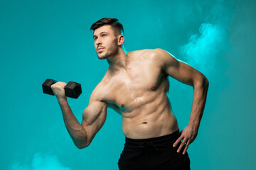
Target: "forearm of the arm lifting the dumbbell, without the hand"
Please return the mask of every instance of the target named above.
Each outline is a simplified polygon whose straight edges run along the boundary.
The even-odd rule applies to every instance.
[[[87,132],[85,128],[83,128],[82,125],[78,122],[77,118],[75,118],[75,115],[68,105],[67,99],[58,99],[58,103],[60,104],[60,108],[63,113],[65,127],[67,128],[74,144],[78,148],[87,146]]]

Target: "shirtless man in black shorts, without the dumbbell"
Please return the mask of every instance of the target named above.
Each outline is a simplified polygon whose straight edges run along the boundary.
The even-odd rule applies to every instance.
[[[122,24],[115,18],[102,18],[91,30],[98,58],[107,59],[110,67],[92,91],[81,124],[68,105],[66,84],[51,86],[75,146],[90,145],[112,108],[122,115],[126,137],[119,169],[190,169],[186,151],[198,134],[208,79],[165,50],[126,52]],[[190,120],[181,132],[167,96],[169,76],[193,86]]]

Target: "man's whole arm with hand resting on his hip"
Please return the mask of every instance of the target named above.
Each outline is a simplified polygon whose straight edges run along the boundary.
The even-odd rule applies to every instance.
[[[181,152],[183,146],[183,154],[186,153],[188,145],[190,145],[198,134],[200,121],[203,115],[203,110],[206,105],[206,96],[208,91],[208,79],[198,70],[190,65],[177,60],[174,56],[165,50],[156,49],[158,63],[164,69],[164,72],[170,77],[181,81],[184,84],[193,86],[193,104],[191,109],[191,117],[188,126],[181,130],[181,136],[174,143],[174,147],[181,142],[177,152]]]

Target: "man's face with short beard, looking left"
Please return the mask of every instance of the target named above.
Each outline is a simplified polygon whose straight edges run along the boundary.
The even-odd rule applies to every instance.
[[[117,53],[117,36],[111,26],[102,26],[93,33],[95,50],[99,59],[106,59]]]

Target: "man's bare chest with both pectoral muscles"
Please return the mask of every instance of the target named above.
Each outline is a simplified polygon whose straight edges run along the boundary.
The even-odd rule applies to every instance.
[[[139,62],[111,77],[105,88],[104,100],[107,103],[114,104],[121,111],[132,112],[168,90],[169,82],[160,67]]]

